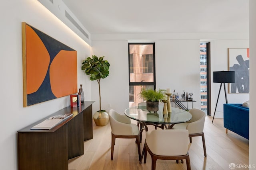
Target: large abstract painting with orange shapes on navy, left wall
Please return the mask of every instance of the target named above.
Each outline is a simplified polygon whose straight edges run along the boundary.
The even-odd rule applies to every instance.
[[[22,22],[23,106],[77,93],[76,51]]]

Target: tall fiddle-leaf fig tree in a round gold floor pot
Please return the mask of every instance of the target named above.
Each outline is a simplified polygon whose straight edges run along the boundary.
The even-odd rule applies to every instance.
[[[82,70],[86,75],[90,75],[90,80],[97,80],[99,86],[100,96],[100,80],[106,78],[109,74],[109,66],[107,60],[103,60],[103,57],[97,57],[92,55],[92,58],[88,57],[82,61]],[[108,124],[108,113],[106,110],[101,109],[101,96],[100,96],[100,110],[96,111],[93,115],[94,122],[97,126],[105,126]]]

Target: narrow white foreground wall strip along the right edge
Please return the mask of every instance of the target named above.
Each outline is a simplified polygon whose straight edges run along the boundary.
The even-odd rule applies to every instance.
[[[256,56],[256,1],[250,0],[249,1],[249,22],[250,22],[250,120],[249,120],[249,164],[256,166],[256,135],[255,135],[255,129],[256,129],[256,79],[255,79],[255,73],[256,73],[256,59],[254,56]],[[252,88],[253,87],[253,88]],[[253,168],[251,168],[253,169]]]

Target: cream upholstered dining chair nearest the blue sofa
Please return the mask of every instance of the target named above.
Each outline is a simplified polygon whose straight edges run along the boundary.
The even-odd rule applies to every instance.
[[[206,147],[204,140],[204,121],[205,113],[200,109],[190,109],[188,112],[191,113],[192,119],[185,123],[175,124],[172,129],[187,129],[189,133],[190,143],[192,143],[192,137],[202,136],[203,148],[204,148],[204,157],[206,157]]]

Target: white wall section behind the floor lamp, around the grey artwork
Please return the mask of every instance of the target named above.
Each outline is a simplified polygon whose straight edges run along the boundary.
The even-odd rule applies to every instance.
[[[214,39],[211,42],[211,71],[228,71],[228,48],[249,48],[248,39]],[[212,77],[211,72],[211,77]],[[220,83],[212,83],[212,116],[216,107]],[[229,94],[226,84],[228,103],[243,103],[249,100],[249,94]],[[224,86],[222,85],[220,98],[214,118],[223,118],[223,104],[226,103]]]

